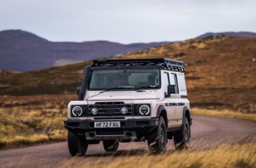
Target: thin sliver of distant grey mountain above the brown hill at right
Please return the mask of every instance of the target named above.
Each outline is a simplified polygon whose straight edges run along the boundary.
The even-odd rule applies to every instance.
[[[226,31],[226,32],[219,32],[219,33],[209,32],[209,33],[202,34],[202,35],[200,35],[196,38],[205,38],[205,37],[208,37],[208,36],[216,36],[216,35],[219,35],[219,34],[224,34],[226,36],[256,37],[256,33],[249,32],[249,31],[238,31],[238,32]]]

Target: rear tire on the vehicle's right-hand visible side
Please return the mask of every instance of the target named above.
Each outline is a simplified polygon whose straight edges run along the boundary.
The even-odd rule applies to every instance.
[[[186,149],[189,146],[191,138],[190,125],[188,123],[188,118],[185,118],[185,123],[182,129],[174,132],[174,146],[177,150]]]

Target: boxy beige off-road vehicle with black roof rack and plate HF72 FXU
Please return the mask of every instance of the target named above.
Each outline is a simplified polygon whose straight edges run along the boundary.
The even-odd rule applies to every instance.
[[[84,67],[78,100],[68,104],[70,155],[84,155],[88,144],[103,141],[105,151],[120,142],[148,141],[151,153],[188,148],[190,105],[184,64],[172,59],[94,60]]]

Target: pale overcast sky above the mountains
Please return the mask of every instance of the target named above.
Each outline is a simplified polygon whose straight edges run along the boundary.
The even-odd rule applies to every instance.
[[[256,32],[252,0],[0,0],[0,30],[50,41],[179,41],[208,31]]]

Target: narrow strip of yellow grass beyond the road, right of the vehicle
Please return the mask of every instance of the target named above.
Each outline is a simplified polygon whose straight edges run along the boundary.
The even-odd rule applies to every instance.
[[[192,114],[204,115],[204,116],[218,116],[227,118],[238,118],[243,120],[252,120],[256,122],[256,113],[241,113],[233,112],[230,110],[208,110],[208,109],[191,109]]]

